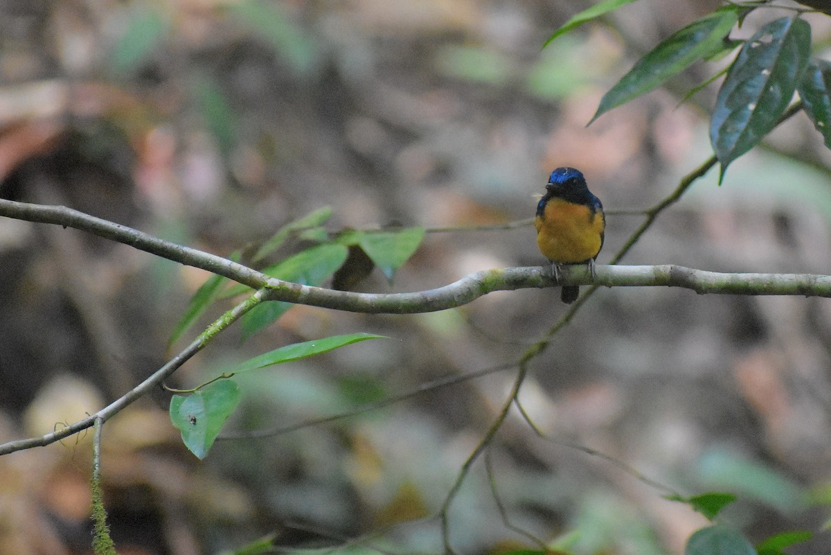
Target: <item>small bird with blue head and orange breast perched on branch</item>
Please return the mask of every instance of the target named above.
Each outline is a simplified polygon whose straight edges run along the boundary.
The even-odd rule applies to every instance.
[[[606,217],[600,199],[588,190],[583,174],[574,168],[551,172],[546,193],[537,204],[537,246],[551,261],[554,278],[559,280],[563,264],[588,263],[594,275],[594,259],[603,246]],[[563,286],[560,298],[570,304],[580,294],[576,285]]]

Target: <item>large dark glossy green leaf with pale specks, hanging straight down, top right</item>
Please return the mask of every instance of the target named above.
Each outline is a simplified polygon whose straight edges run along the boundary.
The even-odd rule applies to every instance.
[[[719,183],[730,162],[774,128],[794,96],[810,47],[811,27],[799,17],[770,22],[745,42],[721,85],[710,124]]]

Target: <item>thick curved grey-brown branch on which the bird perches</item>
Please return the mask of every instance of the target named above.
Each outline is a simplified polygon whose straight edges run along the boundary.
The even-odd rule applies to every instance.
[[[694,174],[701,173],[701,169]],[[62,206],[42,206],[0,199],[0,216],[54,223],[202,268],[249,287],[265,287],[263,301],[284,301],[348,312],[415,314],[460,307],[494,291],[556,285],[595,287],[685,287],[698,293],[741,295],[804,295],[831,297],[831,277],[814,274],[715,273],[676,265],[598,265],[595,278],[583,266],[563,268],[556,282],[547,267],[496,268],[472,273],[444,287],[406,293],[358,293],[311,287],[270,278],[253,268],[215,254],[155,238],[148,233],[108,222]]]

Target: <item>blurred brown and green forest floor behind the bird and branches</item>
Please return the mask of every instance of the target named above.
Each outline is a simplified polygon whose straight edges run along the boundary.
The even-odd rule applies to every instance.
[[[333,231],[421,225],[425,242],[394,285],[376,271],[356,286],[417,291],[543,263],[533,226],[499,225],[532,217],[548,173],[572,165],[609,211],[606,263],[642,222],[616,211],[656,204],[711,155],[715,86],[678,105],[727,60],[587,128],[639,56],[720,2],[642,0],[541,50],[588,5],[2,0],[0,196],[226,256],[324,206]],[[781,13],[754,12],[734,35]],[[828,17],[808,19],[827,45]],[[829,168],[798,115],[722,186],[715,170],[697,181],[623,263],[831,273]],[[175,352],[170,333],[208,277],[10,219],[0,260],[2,440],[77,420],[149,376]],[[234,432],[493,372],[326,425],[220,440],[201,462],[158,390],[105,428],[119,553],[222,553],[267,534],[289,550],[440,552],[435,513],[509,395],[513,363],[565,310],[558,291],[524,290],[417,316],[295,307],[248,341],[229,329],[171,385],[295,341],[391,337],[239,376]],[[572,553],[682,553],[706,520],[652,479],[680,494],[738,494],[724,517],[752,541],[809,529],[816,537],[791,553],[827,553],[829,310],[818,298],[599,290],[521,392],[547,439],[509,415],[488,451],[492,479],[480,459],[452,505],[451,542],[462,553],[534,547],[503,523],[494,486],[514,525]],[[91,553],[90,452],[80,435],[0,458],[0,553]]]

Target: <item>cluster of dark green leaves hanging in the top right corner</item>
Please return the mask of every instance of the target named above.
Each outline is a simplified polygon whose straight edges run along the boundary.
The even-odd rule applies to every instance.
[[[607,0],[578,13],[548,38],[600,17],[632,0]],[[696,61],[720,59],[738,50],[730,64],[702,86],[725,74],[710,122],[710,140],[720,163],[719,182],[734,160],[759,145],[799,94],[799,105],[831,148],[831,66],[811,55],[811,27],[796,9],[760,27],[751,37],[731,37],[750,12],[771,2],[730,2],[672,33],[602,97],[591,124],[607,111],[632,101],[677,76]],[[685,99],[686,100],[686,99]]]

